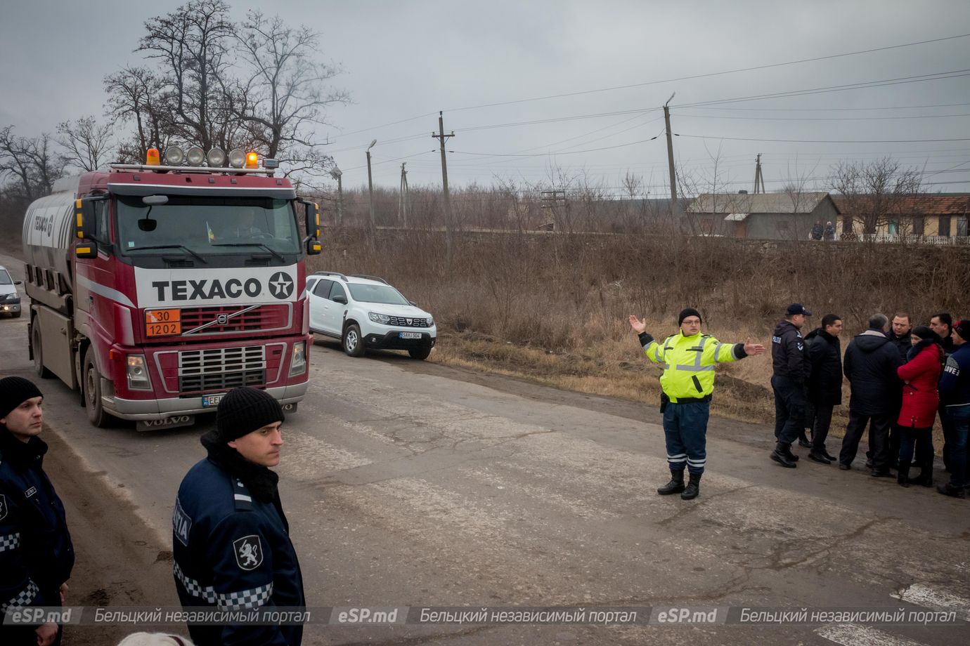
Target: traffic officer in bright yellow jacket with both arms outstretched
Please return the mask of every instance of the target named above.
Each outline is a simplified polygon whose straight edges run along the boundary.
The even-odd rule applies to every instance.
[[[714,365],[761,354],[764,346],[721,343],[700,333],[700,313],[689,307],[677,317],[680,331],[657,342],[646,323],[630,315],[630,327],[639,335],[647,358],[663,366],[661,411],[666,436],[670,481],[657,490],[662,496],[679,493],[691,500],[700,493],[700,476],[707,462],[707,418],[714,392]],[[684,486],[684,467],[691,481]]]

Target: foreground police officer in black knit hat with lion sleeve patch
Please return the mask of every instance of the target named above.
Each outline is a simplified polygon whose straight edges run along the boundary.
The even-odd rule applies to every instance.
[[[202,437],[209,456],[178,487],[174,574],[183,606],[304,607],[303,576],[276,490],[283,411],[265,390],[234,388]],[[303,626],[189,626],[199,644],[287,644]]]

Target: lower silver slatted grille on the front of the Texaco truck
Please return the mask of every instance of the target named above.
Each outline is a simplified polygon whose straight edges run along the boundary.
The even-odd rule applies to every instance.
[[[178,353],[178,390],[228,390],[266,383],[266,348],[215,348]]]

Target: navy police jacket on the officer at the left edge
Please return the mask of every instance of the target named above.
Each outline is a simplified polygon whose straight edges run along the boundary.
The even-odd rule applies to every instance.
[[[0,621],[10,607],[60,605],[74,568],[64,505],[43,469],[47,450],[40,438],[20,442],[0,424]],[[0,641],[20,643],[15,632],[0,627]],[[33,628],[25,636],[36,643]]]

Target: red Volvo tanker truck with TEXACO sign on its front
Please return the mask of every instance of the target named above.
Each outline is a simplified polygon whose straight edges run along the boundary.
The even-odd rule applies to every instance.
[[[309,374],[316,204],[255,152],[170,146],[164,165],[64,178],[23,221],[27,350],[95,426],[183,426],[229,389],[296,410]],[[305,221],[301,231],[300,214]]]

